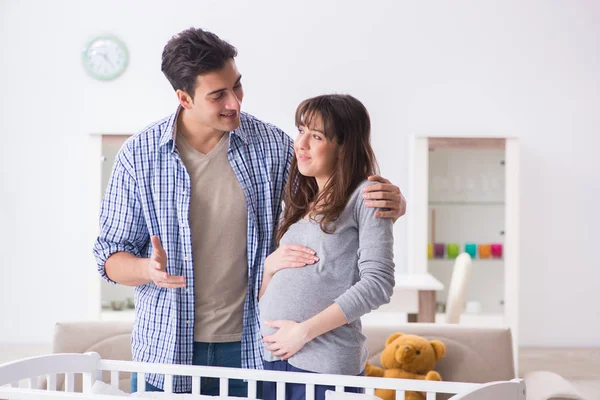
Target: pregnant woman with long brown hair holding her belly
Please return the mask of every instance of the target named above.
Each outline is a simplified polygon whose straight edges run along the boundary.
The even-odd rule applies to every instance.
[[[360,317],[389,302],[394,287],[393,222],[363,198],[376,172],[369,114],[352,96],[323,95],[298,106],[296,126],[279,247],[259,294],[264,367],[364,375]],[[328,389],[317,385],[315,399]],[[265,382],[264,399],[275,394]],[[304,385],[286,385],[286,399],[304,398]]]

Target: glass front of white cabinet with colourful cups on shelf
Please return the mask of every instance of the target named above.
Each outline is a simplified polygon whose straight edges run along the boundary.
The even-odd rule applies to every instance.
[[[503,148],[430,145],[427,238],[433,252],[428,249],[427,264],[444,284],[438,295],[442,313],[454,259],[463,252],[473,259],[465,313],[498,320],[504,313],[504,159]]]

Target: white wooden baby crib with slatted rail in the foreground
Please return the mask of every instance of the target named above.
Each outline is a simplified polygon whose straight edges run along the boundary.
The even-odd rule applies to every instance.
[[[375,388],[396,390],[396,399],[404,399],[404,391],[426,392],[427,400],[435,400],[437,393],[454,394],[451,400],[525,400],[525,384],[521,379],[486,384],[462,382],[434,382],[375,377],[308,374],[280,371],[247,370],[236,368],[184,366],[170,364],[136,363],[131,361],[102,360],[98,353],[52,354],[26,358],[0,365],[0,399],[125,399],[125,396],[93,394],[92,386],[102,371],[110,371],[111,385],[118,386],[120,372],[138,373],[138,392],[144,391],[144,374],[159,373],[165,376],[165,392],[172,393],[174,376],[192,377],[191,399],[211,399],[200,395],[201,377],[220,379],[220,396],[226,399],[229,379],[244,379],[248,382],[248,398],[256,399],[257,382],[277,382],[277,398],[285,399],[285,383],[306,385],[307,400],[314,400],[314,385],[335,386],[336,392],[344,387],[361,387],[365,394],[373,395]],[[56,390],[56,376],[65,375],[65,391]],[[83,393],[74,392],[75,374],[82,374]],[[46,377],[47,389],[38,386],[39,377]],[[22,388],[27,383],[27,388]],[[341,395],[342,393],[336,393]],[[181,395],[179,395],[181,396]],[[357,399],[353,395],[352,399]],[[186,396],[187,397],[187,396]],[[179,397],[181,398],[181,397]],[[232,399],[232,398],[230,398]]]

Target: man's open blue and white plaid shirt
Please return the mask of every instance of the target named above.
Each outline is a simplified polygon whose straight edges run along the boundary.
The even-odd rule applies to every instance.
[[[165,289],[153,282],[135,288],[132,352],[135,361],[192,364],[194,342],[194,263],[188,214],[190,177],[175,147],[178,112],[129,138],[117,155],[100,212],[94,254],[100,275],[116,252],[137,257],[152,253],[150,236],[167,252],[167,273],[184,275],[187,288]],[[241,113],[229,134],[229,162],[248,207],[248,291],[244,302],[242,367],[262,369],[258,291],[263,264],[273,250],[274,229],[293,155],[293,141],[277,127]],[[221,284],[227,284],[222,282]],[[147,381],[163,387],[162,375]],[[177,392],[191,379],[175,377]]]

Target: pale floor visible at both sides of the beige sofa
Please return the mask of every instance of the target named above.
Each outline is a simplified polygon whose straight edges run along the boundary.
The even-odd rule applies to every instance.
[[[50,345],[1,345],[0,364],[51,352]],[[536,370],[555,372],[569,382],[586,400],[600,400],[600,348],[522,348],[519,376]]]

